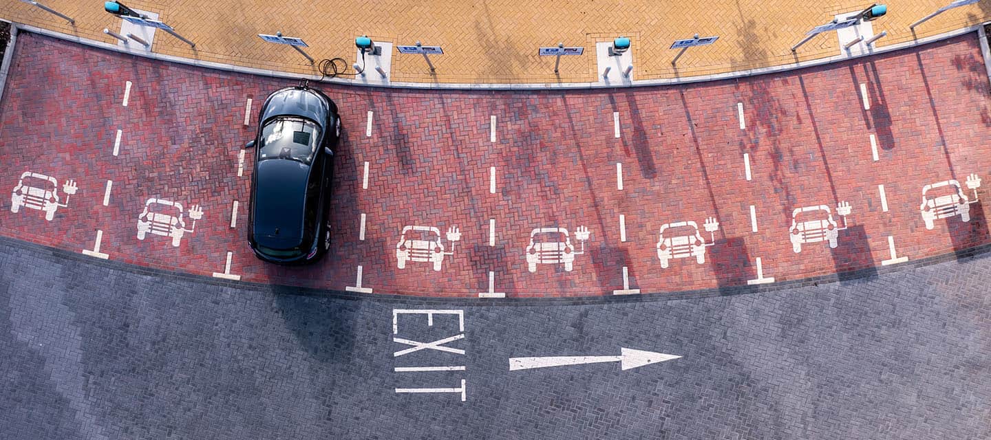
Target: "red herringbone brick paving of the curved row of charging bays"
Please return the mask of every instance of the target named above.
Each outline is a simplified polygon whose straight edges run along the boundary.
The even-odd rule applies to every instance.
[[[21,37],[0,107],[0,144],[8,152],[0,186],[13,189],[21,172],[32,170],[55,176],[59,185],[72,178],[79,189],[51,222],[37,210],[12,213],[4,196],[0,233],[79,252],[92,249],[102,230],[100,251],[135,265],[211,275],[223,272],[232,252],[231,273],[249,281],[343,290],[355,285],[360,265],[363,286],[377,293],[477,296],[494,272],[495,291],[509,296],[575,296],[622,288],[623,267],[631,288],[679,291],[744,285],[757,276],[756,258],[764,276],[779,281],[877,268],[891,258],[889,236],[898,256],[910,259],[991,242],[980,202],[971,205],[969,223],[936,220],[934,230],[925,228],[919,211],[927,183],[954,178],[964,184],[969,173],[991,183],[988,78],[973,35],[864,60],[678,87],[522,93],[324,86],[341,108],[345,139],[335,164],[332,250],[307,268],[275,267],[252,256],[245,240],[251,152],[244,175],[237,175],[240,147],[254,136],[262,101],[295,81]],[[133,86],[124,107],[126,81]],[[243,125],[247,98],[254,100],[249,127]],[[737,103],[743,104],[743,130]],[[368,111],[374,112],[371,137]],[[117,130],[122,142],[114,157]],[[362,188],[365,162],[368,189]],[[104,206],[108,179],[113,189]],[[983,196],[984,187],[978,192]],[[202,220],[179,247],[167,237],[137,239],[137,218],[150,197],[202,206]],[[231,228],[234,200],[240,208]],[[842,226],[835,212],[841,201],[852,212],[838,246],[808,243],[794,253],[792,210],[827,205]],[[708,217],[719,227],[706,262],[678,259],[662,269],[656,250],[661,225],[694,221],[709,241],[702,230]],[[395,248],[404,225],[437,227],[442,235],[456,226],[462,239],[440,272],[415,262],[399,270]],[[580,252],[580,226],[591,236],[573,271],[563,265],[528,271],[532,229],[566,228]],[[450,243],[445,246],[449,251]]]

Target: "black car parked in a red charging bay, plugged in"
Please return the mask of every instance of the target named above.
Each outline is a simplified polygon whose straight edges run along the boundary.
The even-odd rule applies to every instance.
[[[246,146],[255,148],[248,242],[267,262],[313,262],[330,249],[337,105],[315,88],[286,87],[265,100],[259,121]]]

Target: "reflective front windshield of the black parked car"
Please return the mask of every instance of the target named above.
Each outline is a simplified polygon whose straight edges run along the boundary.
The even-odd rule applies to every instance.
[[[261,160],[288,159],[309,165],[316,153],[320,129],[305,119],[279,118],[262,128]]]

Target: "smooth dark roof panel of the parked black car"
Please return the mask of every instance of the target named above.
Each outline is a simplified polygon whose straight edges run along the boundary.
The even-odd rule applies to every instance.
[[[258,164],[252,230],[256,243],[272,249],[301,245],[309,170],[307,165],[282,159]]]

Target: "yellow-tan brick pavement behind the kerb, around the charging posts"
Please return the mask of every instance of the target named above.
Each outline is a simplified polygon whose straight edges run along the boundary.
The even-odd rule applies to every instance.
[[[887,31],[877,46],[912,41],[991,19],[991,0],[950,10],[916,28],[909,24],[950,0],[891,0],[888,15],[873,22]],[[0,0],[0,18],[82,38],[114,43],[104,28],[120,29],[120,19],[93,0],[40,0],[75,19],[75,26],[19,0]],[[790,51],[814,26],[835,14],[869,3],[851,0],[557,0],[533,1],[127,1],[157,12],[176,32],[196,43],[195,50],[156,35],[153,51],[209,61],[317,73],[302,55],[263,42],[257,34],[300,37],[317,60],[334,56],[354,61],[354,38],[444,47],[432,56],[431,74],[420,55],[392,57],[392,80],[416,82],[589,82],[597,80],[595,43],[618,35],[633,39],[637,79],[672,78],[788,64],[838,55],[835,33],[816,37]],[[205,6],[209,5],[209,6]],[[677,39],[693,34],[719,36],[709,47],[692,48],[671,64]],[[584,46],[586,55],[565,56],[560,74],[554,58],[537,56],[539,46]]]

